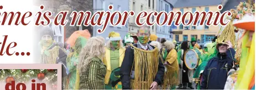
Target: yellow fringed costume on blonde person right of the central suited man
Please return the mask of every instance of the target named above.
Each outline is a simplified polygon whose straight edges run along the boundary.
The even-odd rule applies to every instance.
[[[163,89],[176,88],[179,85],[179,63],[177,60],[177,52],[175,49],[171,49],[166,57],[166,61],[170,65],[166,65],[167,71],[164,74],[164,85]]]

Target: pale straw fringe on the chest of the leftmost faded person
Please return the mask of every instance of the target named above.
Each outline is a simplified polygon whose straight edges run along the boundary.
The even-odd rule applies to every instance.
[[[56,64],[57,59],[59,58],[59,49],[58,46],[54,46],[49,50],[49,56],[43,54],[41,55],[41,59],[43,60],[43,64]]]

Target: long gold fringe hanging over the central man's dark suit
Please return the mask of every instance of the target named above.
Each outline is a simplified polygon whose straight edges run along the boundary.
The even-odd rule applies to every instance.
[[[143,50],[134,47],[134,80],[130,81],[132,89],[150,89],[158,71],[159,52],[153,50]]]

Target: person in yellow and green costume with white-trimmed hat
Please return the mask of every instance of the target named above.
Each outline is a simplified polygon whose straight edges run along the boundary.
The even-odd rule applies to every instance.
[[[119,33],[112,31],[107,38],[106,54],[103,59],[103,63],[107,66],[107,74],[105,76],[106,89],[122,89],[122,83],[118,73],[126,49],[123,48]]]

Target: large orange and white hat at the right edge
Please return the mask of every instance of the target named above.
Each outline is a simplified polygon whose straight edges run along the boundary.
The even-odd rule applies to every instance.
[[[233,25],[244,30],[255,31],[255,18],[253,14],[245,14],[241,20],[233,22]]]

